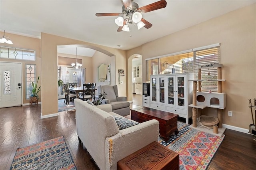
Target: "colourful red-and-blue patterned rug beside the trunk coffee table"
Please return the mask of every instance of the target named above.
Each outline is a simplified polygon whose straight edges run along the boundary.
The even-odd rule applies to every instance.
[[[208,134],[178,121],[178,135],[158,142],[180,154],[180,170],[206,170],[225,135]]]

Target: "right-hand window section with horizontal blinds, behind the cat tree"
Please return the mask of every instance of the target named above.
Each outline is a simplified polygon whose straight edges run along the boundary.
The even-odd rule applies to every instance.
[[[220,46],[194,51],[194,73],[195,78],[198,79],[197,66],[202,66],[201,76],[203,80],[218,79],[217,68],[213,68],[212,64],[220,63]],[[202,81],[202,90],[217,91],[217,81]]]

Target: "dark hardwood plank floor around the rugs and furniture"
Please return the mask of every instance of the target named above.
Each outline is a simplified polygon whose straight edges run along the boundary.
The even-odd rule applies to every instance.
[[[131,108],[136,107],[138,105],[131,104]],[[10,169],[18,147],[29,146],[58,136],[64,136],[78,170],[98,169],[86,152],[86,148],[78,144],[75,111],[59,112],[59,116],[45,119],[40,119],[40,113],[40,104],[0,108],[0,170]],[[254,136],[228,129],[224,134],[226,135],[224,141],[208,169],[255,170]]]

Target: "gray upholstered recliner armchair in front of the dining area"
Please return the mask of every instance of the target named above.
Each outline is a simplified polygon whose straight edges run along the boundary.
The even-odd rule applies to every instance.
[[[117,85],[114,86],[98,86],[98,94],[105,92],[107,95],[105,96],[104,102],[106,104],[111,104],[112,112],[119,114],[121,116],[126,116],[130,114],[130,102],[127,102],[127,97],[118,96],[118,88]]]

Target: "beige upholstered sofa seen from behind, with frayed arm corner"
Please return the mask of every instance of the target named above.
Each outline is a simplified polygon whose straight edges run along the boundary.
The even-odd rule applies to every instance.
[[[158,140],[157,120],[119,130],[113,116],[121,116],[112,112],[110,104],[92,106],[80,99],[74,103],[79,142],[101,170],[116,170],[119,160]]]

